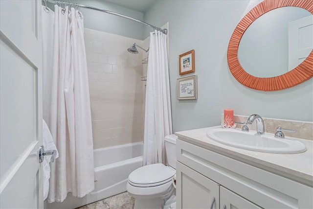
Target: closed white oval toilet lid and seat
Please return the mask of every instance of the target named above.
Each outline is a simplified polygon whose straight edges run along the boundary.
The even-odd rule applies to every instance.
[[[134,170],[128,177],[134,186],[158,186],[172,180],[175,171],[162,163],[145,165]]]

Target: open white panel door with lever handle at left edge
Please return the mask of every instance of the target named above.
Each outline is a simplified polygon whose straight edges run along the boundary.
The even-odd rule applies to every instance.
[[[41,1],[0,0],[0,208],[44,208]]]

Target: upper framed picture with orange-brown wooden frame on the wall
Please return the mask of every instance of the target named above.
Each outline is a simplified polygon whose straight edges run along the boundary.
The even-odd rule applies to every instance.
[[[187,51],[179,55],[179,75],[195,71],[195,50]]]

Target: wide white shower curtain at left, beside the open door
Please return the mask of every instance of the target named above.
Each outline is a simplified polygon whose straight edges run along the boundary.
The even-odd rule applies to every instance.
[[[68,7],[43,13],[43,111],[59,151],[50,163],[49,203],[94,189],[93,144],[83,15]]]

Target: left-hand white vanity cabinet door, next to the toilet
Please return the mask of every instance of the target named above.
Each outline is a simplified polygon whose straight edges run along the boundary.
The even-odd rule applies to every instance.
[[[219,185],[195,170],[177,162],[176,195],[178,209],[220,208]]]

